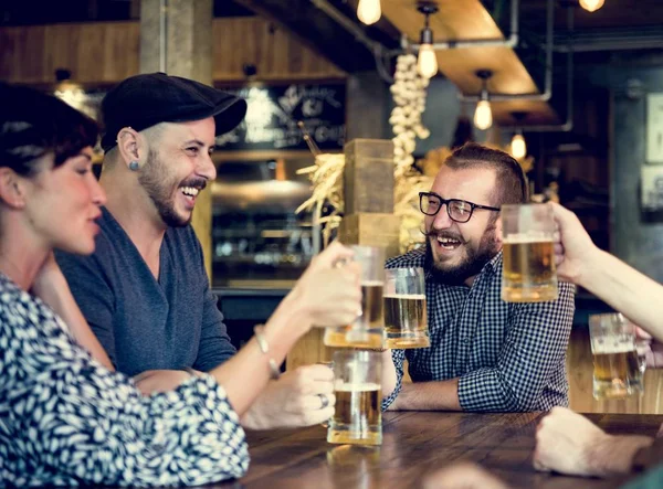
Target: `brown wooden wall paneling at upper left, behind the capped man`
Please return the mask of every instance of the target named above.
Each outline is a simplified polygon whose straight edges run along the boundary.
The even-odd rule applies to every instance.
[[[244,64],[257,81],[343,78],[346,74],[266,20],[214,19],[214,82],[245,82]],[[138,22],[95,22],[0,29],[0,79],[53,84],[55,70],[83,85],[114,84],[139,72]]]

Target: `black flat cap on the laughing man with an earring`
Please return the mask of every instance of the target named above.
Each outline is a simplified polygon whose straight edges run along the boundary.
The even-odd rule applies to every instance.
[[[123,127],[137,131],[160,123],[189,123],[214,117],[215,135],[234,129],[246,114],[246,102],[211,86],[166,73],[125,79],[102,102],[104,151],[117,145]]]

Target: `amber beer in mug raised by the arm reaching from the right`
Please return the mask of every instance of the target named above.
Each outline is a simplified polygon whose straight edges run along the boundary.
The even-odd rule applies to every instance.
[[[558,297],[551,237],[511,235],[503,242],[502,299],[541,302]]]

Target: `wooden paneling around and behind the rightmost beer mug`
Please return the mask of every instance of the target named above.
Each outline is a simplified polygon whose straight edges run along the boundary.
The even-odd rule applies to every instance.
[[[593,363],[588,328],[575,328],[567,354],[569,407],[580,413],[663,414],[663,370],[644,373],[644,393],[621,401],[592,396]]]

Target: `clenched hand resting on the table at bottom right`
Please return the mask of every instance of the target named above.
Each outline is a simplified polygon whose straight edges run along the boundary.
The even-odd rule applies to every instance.
[[[554,407],[537,427],[534,467],[571,476],[628,474],[635,453],[652,442],[645,436],[608,435],[585,416]]]

